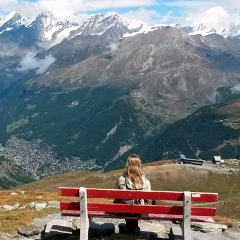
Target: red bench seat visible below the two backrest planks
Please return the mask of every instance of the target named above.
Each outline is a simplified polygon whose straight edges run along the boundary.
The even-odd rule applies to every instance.
[[[72,216],[79,217],[80,211],[63,211],[62,216]],[[106,212],[88,212],[88,217],[98,217],[98,218],[119,218],[119,219],[137,219],[137,220],[169,220],[169,221],[182,221],[182,215],[163,215],[163,214],[149,214],[149,217],[129,217],[113,215]],[[208,222],[213,223],[211,217],[191,217],[191,222]]]

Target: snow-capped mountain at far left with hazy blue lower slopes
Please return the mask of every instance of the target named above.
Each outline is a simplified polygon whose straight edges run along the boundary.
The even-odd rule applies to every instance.
[[[20,62],[28,54],[36,55],[60,43],[79,25],[56,18],[51,13],[27,18],[12,12],[0,21],[0,85],[16,81],[24,73]],[[38,61],[38,59],[36,59]]]

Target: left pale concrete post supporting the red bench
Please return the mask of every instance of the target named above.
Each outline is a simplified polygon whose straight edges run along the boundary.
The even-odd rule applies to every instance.
[[[88,209],[87,209],[87,191],[86,188],[79,189],[80,198],[80,240],[88,240]]]

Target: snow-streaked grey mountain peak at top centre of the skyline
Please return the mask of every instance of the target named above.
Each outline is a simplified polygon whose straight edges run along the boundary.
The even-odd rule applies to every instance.
[[[138,32],[143,27],[144,25],[140,22],[127,20],[118,13],[109,12],[90,16],[82,26],[71,32],[70,37],[76,35],[108,35],[119,39],[124,34]]]

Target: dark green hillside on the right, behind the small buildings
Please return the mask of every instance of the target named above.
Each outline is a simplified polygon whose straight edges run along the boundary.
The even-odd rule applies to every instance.
[[[205,160],[212,160],[215,155],[240,159],[240,98],[199,109],[168,125],[121,159],[126,159],[130,153],[139,153],[145,162],[177,159],[179,154]],[[117,166],[123,167],[124,161],[119,161]],[[106,171],[115,167],[115,164],[109,165]]]

